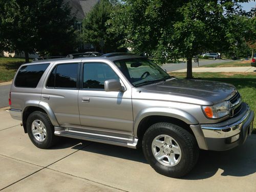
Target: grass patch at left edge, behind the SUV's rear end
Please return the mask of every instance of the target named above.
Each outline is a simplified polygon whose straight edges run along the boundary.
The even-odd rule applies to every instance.
[[[0,82],[11,81],[25,58],[0,57]]]

